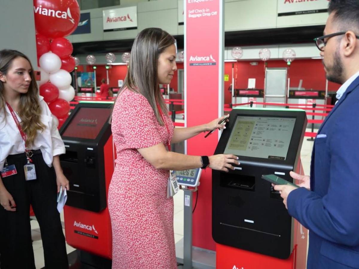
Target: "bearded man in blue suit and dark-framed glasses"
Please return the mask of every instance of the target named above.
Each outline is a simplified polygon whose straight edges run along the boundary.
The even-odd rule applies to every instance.
[[[314,41],[339,101],[314,141],[310,180],[291,172],[310,189],[274,189],[309,230],[308,269],[359,268],[359,0],[331,0],[328,12]]]

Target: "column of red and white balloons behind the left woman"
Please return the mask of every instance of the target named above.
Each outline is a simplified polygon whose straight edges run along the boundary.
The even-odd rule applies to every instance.
[[[80,8],[76,0],[33,0],[36,28],[36,49],[41,80],[40,95],[54,116],[58,128],[70,111],[74,99],[71,75],[76,59],[71,56],[73,46],[65,38],[76,29]]]

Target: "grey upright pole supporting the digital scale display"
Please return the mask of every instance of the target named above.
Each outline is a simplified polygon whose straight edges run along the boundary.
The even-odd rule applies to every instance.
[[[190,189],[181,186],[184,191],[183,207],[183,268],[192,269],[192,194],[197,187]]]

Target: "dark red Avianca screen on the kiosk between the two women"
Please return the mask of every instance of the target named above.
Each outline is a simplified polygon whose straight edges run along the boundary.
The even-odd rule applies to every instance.
[[[82,107],[71,120],[63,136],[95,139],[107,122],[111,108]]]

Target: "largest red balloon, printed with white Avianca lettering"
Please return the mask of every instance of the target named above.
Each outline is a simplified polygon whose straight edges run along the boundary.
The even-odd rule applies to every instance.
[[[76,0],[33,0],[37,33],[50,38],[68,36],[80,21]]]

